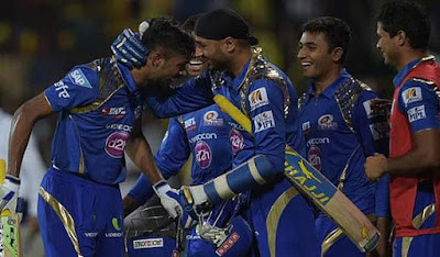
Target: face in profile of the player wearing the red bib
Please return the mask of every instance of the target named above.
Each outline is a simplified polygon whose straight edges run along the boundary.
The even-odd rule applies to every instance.
[[[389,66],[397,65],[397,36],[391,37],[389,33],[386,32],[381,22],[377,22],[377,49],[381,51],[384,57],[384,63]]]

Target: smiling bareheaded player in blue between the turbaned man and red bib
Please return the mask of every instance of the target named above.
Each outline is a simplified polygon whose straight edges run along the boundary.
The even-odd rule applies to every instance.
[[[373,104],[377,94],[343,68],[350,34],[349,25],[337,18],[304,24],[298,58],[311,82],[299,100],[299,116],[307,159],[372,221],[378,219],[383,254],[388,239],[388,181],[370,182],[363,165],[366,156],[388,152],[388,112],[377,110]],[[324,213],[318,212],[316,226],[322,256],[365,256]]]

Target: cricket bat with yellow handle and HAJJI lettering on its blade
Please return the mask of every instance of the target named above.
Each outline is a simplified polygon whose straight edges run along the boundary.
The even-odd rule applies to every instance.
[[[223,96],[216,96],[213,100],[252,135],[252,124],[248,116]],[[371,252],[377,246],[381,233],[369,217],[321,172],[288,146],[284,165],[286,179],[338,224],[362,253]]]

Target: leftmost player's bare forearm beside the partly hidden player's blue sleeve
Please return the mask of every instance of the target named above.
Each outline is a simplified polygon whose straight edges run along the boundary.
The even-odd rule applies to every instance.
[[[146,175],[148,180],[155,185],[164,180],[162,174],[158,171],[154,164],[154,157],[151,152],[150,145],[142,134],[142,121],[138,119],[133,126],[133,131],[127,141],[125,153],[130,156],[131,160],[138,168]]]

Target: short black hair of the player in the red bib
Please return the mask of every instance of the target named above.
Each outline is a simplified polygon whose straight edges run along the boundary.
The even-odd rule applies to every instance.
[[[431,25],[425,9],[416,1],[387,1],[376,18],[391,37],[404,31],[415,49],[427,49]]]

